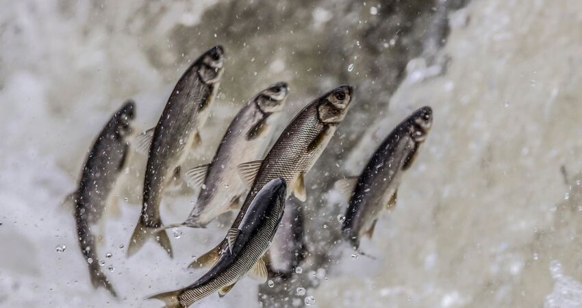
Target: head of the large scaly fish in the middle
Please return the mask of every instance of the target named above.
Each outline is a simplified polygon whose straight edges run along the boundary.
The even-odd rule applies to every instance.
[[[340,123],[346,116],[352,93],[351,86],[339,86],[323,94],[317,108],[319,119],[327,124]]]

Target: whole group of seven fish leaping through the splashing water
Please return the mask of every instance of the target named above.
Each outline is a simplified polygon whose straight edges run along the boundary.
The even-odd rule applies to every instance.
[[[355,88],[343,85],[320,94],[294,116],[269,147],[290,86],[283,81],[267,86],[234,116],[210,162],[184,170],[192,149],[209,146],[202,144],[200,133],[225,68],[225,49],[208,49],[177,81],[155,127],[131,136],[136,103],[127,101],[94,141],[77,189],[65,198],[74,206],[79,247],[94,287],[105,287],[117,296],[99,268],[97,246],[106,236],[100,227],[105,209],[116,206],[115,191],[123,185],[118,178],[130,149],[146,155],[147,165],[142,209],[129,237],[127,257],[138,253],[148,240],[173,257],[166,229],[205,228],[220,214],[238,211],[225,230],[224,240],[190,264],[190,268],[208,267],[205,274],[189,286],[150,298],[163,300],[168,308],[189,307],[215,292],[225,296],[244,276],[260,283],[275,276],[288,279],[303,261],[307,246],[303,226],[308,223],[303,212],[305,177],[342,125],[353,105]],[[398,185],[414,163],[432,122],[431,107],[420,107],[370,153],[359,176],[336,181],[333,190],[344,194],[347,205],[341,231],[351,248],[359,250],[361,238],[372,237],[382,209],[396,204]],[[164,225],[160,216],[164,192],[183,181],[198,191],[196,201],[188,217]]]

